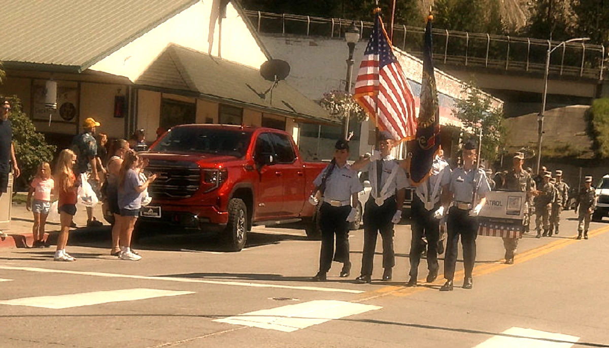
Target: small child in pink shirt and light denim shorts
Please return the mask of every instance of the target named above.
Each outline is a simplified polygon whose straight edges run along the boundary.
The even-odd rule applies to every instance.
[[[32,180],[30,191],[27,193],[27,210],[32,209],[34,225],[32,227],[32,247],[49,247],[44,243],[44,225],[51,208],[51,195],[54,193],[55,182],[51,177],[51,166],[43,162],[38,166],[38,172]],[[34,200],[32,202],[32,195]]]

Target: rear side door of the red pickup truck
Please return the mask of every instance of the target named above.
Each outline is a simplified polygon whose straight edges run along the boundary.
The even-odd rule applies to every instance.
[[[270,133],[277,163],[275,170],[283,177],[283,215],[297,217],[305,204],[305,169],[296,157],[289,135]]]

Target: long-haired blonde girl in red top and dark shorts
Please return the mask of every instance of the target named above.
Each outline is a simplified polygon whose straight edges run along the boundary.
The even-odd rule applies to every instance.
[[[57,160],[57,170],[55,174],[55,192],[59,196],[57,204],[59,210],[59,221],[61,222],[61,230],[57,236],[57,249],[55,250],[55,261],[74,261],[66,252],[66,244],[68,244],[68,235],[72,219],[76,215],[76,198],[78,188],[80,186],[80,176],[76,179],[74,170],[76,165],[76,154],[69,149],[64,149],[59,153]]]

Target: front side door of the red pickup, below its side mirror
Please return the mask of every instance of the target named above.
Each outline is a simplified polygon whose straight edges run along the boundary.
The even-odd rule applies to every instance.
[[[254,160],[258,170],[254,220],[279,217],[283,215],[284,178],[281,171],[276,168],[275,149],[269,133],[261,133],[256,138]]]

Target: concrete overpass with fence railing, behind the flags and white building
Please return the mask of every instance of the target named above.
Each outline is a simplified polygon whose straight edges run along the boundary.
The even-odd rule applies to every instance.
[[[347,55],[346,45],[339,42],[350,20],[254,11],[248,11],[247,16],[266,44],[276,44],[282,38],[285,43],[310,39],[311,45],[335,47],[333,52],[328,51],[331,59],[336,59],[337,49]],[[373,23],[356,21],[356,25],[362,32],[358,46],[363,52]],[[422,55],[424,28],[396,25],[393,29],[396,48],[415,57]],[[435,66],[448,75],[474,80],[477,87],[504,101],[505,115],[514,117],[540,111],[545,54],[549,45],[556,44],[557,41],[434,29],[434,60]],[[362,52],[356,51],[356,57]],[[604,46],[586,43],[567,44],[553,52],[547,109],[590,105],[594,98],[609,94],[604,88],[606,53]]]

